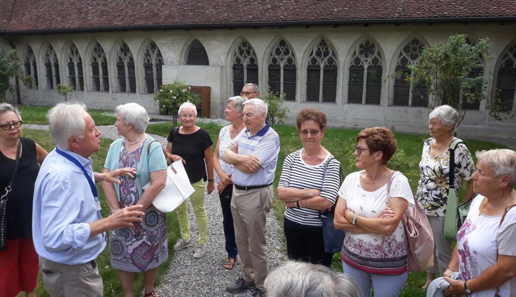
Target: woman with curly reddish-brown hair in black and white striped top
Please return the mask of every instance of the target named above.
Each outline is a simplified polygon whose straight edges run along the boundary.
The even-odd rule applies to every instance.
[[[319,211],[335,204],[340,162],[330,160],[333,155],[321,145],[324,113],[305,108],[296,117],[296,127],[303,148],[285,158],[278,183],[278,197],[285,201],[287,253],[290,259],[329,267],[333,254],[325,253]]]

